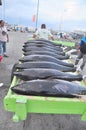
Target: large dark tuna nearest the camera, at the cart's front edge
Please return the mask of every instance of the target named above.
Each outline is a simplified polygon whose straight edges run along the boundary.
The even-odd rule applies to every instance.
[[[48,97],[77,97],[86,94],[86,87],[64,80],[31,80],[11,88],[17,94]]]

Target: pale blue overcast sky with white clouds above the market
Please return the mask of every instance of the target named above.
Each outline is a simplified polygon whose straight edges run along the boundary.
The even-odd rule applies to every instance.
[[[0,19],[11,24],[36,26],[38,0],[2,0]],[[86,30],[86,0],[39,0],[38,24],[56,30]]]

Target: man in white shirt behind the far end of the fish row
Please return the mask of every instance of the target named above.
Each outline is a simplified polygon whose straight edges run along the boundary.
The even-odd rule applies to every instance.
[[[46,25],[42,24],[41,29],[37,30],[33,35],[33,38],[45,39],[45,40],[54,40],[51,32],[46,29]]]

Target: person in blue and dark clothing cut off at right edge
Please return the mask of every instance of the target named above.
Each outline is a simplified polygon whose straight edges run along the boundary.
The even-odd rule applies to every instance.
[[[81,72],[81,70],[83,70],[86,64],[86,33],[84,34],[84,37],[81,39],[79,49],[80,49],[80,53],[82,55],[83,60],[82,60],[81,65],[76,70],[78,72]]]

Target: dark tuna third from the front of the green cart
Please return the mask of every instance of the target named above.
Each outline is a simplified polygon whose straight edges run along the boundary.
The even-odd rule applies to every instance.
[[[48,69],[60,70],[63,72],[76,71],[74,67],[67,67],[53,62],[47,62],[47,61],[46,62],[45,61],[24,62],[16,65],[16,69],[31,69],[31,68],[48,68]]]

